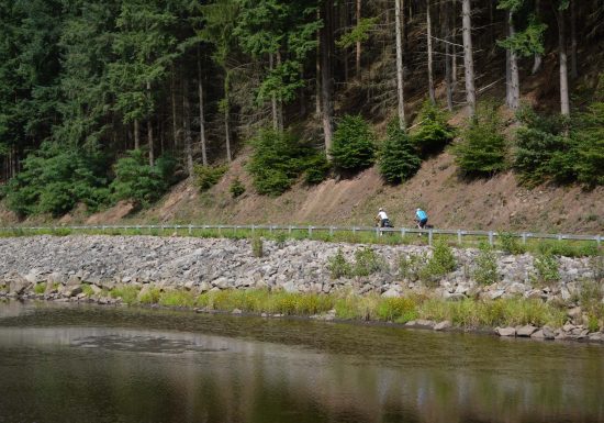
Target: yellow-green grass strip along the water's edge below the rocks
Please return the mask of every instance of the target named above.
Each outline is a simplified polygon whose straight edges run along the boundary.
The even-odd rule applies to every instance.
[[[166,290],[121,287],[108,292],[128,304],[159,304],[165,307],[202,308],[211,311],[267,313],[313,316],[332,313],[351,321],[406,323],[425,319],[448,320],[463,329],[491,329],[534,324],[560,327],[567,321],[567,304],[545,303],[538,299],[511,298],[497,300],[466,299],[446,301],[440,298],[411,296],[382,298],[378,294],[317,294],[288,293],[268,290],[223,290],[195,294],[187,290]],[[589,299],[585,299],[585,301]],[[582,301],[579,299],[579,301]],[[590,330],[597,331],[604,319],[604,305],[589,309]]]

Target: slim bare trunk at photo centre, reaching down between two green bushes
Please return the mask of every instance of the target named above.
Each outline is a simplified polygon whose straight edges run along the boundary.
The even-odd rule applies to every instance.
[[[325,152],[331,159],[329,151],[334,137],[334,104],[333,104],[333,74],[332,60],[334,52],[333,24],[333,0],[323,2],[323,27],[321,30],[321,99],[323,134],[325,137]]]

